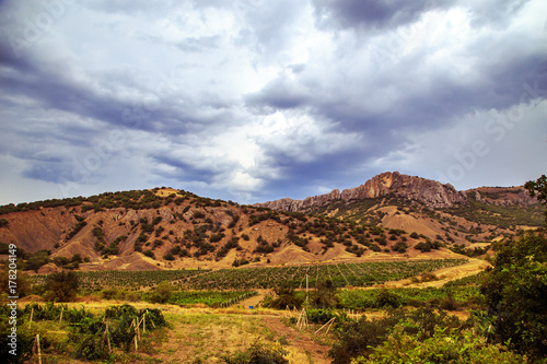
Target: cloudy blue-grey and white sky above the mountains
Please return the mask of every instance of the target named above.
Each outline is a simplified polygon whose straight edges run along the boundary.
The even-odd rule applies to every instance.
[[[547,173],[545,0],[0,0],[0,204]]]

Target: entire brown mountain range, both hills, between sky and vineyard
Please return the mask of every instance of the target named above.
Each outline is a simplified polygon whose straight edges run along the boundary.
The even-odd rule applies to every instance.
[[[433,259],[484,254],[492,240],[542,225],[543,209],[522,187],[457,191],[394,172],[256,206],[165,187],[8,204],[0,259],[8,244],[22,269],[38,272]]]

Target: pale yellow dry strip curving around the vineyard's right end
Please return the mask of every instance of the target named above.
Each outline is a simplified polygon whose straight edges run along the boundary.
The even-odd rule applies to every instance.
[[[490,267],[490,263],[486,260],[469,259],[469,261],[464,263],[464,265],[456,266],[456,267],[450,267],[450,268],[443,268],[443,269],[433,271],[432,273],[439,278],[439,280],[435,280],[435,281],[412,283],[411,279],[404,279],[404,280],[394,281],[394,282],[386,282],[386,283],[382,284],[381,286],[387,287],[387,289],[397,289],[397,287],[423,289],[423,287],[430,287],[430,286],[441,287],[446,282],[454,281],[454,280],[465,278],[465,277],[469,277],[469,275],[478,274],[488,267]]]

